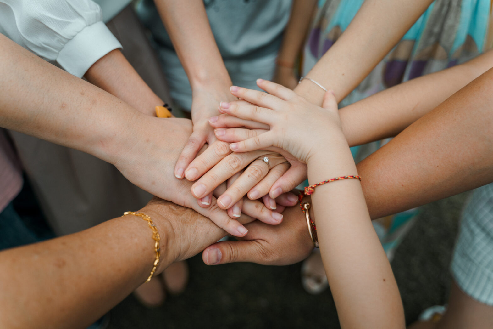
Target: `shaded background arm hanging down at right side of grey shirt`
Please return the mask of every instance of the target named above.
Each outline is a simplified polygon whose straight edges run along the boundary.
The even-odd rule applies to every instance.
[[[274,82],[290,89],[298,84],[293,70],[308,33],[316,4],[316,0],[294,0],[291,7],[291,15],[282,37],[273,79]]]

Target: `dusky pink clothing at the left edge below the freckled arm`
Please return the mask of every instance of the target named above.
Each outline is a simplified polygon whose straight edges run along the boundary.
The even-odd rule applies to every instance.
[[[0,128],[0,212],[19,194],[22,182],[19,159]]]

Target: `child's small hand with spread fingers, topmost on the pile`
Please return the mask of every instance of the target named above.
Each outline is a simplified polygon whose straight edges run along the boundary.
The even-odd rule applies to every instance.
[[[230,144],[234,152],[276,146],[306,164],[315,152],[327,148],[332,138],[343,136],[332,91],[325,94],[323,105],[319,107],[280,84],[259,79],[257,85],[270,95],[237,86],[230,89],[233,95],[257,106],[220,104],[219,112],[269,126],[266,132]]]

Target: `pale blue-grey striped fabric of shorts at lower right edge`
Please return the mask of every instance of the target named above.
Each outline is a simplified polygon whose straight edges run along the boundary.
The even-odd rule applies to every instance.
[[[452,274],[465,293],[493,306],[493,183],[474,190],[464,209]]]

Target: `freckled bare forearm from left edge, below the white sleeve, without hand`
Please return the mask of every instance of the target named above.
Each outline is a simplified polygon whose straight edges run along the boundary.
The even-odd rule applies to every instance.
[[[0,126],[113,163],[115,136],[125,144],[121,132],[132,135],[140,113],[1,35],[0,43]]]

